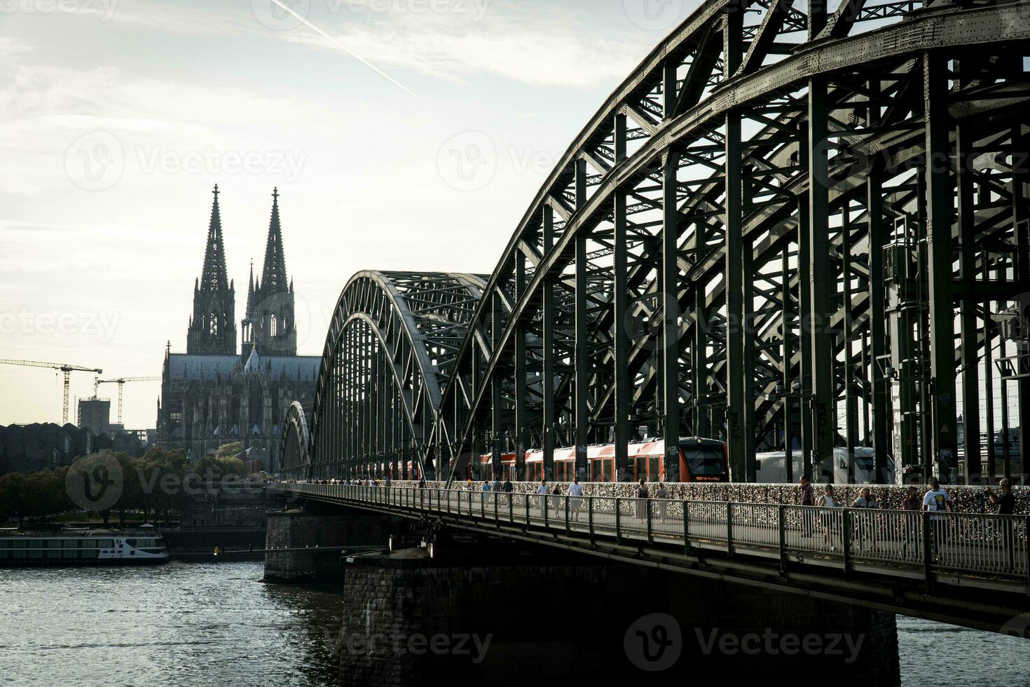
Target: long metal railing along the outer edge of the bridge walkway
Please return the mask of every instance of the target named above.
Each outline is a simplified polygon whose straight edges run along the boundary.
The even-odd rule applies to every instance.
[[[779,555],[911,575],[1002,579],[1030,593],[1030,517],[780,504],[570,496],[444,488],[283,484],[274,488],[590,539]],[[907,571],[907,573],[905,573]]]

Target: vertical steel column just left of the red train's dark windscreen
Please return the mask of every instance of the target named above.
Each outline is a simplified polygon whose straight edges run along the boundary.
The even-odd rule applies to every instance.
[[[661,389],[665,440],[665,479],[680,481],[680,209],[677,199],[677,171],[680,156],[665,153],[662,166],[661,227]]]

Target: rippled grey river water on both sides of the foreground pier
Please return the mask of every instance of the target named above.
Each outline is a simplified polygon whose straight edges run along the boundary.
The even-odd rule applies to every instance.
[[[0,569],[3,687],[336,685],[332,587],[261,562]],[[1030,687],[1030,642],[898,618],[905,687]]]

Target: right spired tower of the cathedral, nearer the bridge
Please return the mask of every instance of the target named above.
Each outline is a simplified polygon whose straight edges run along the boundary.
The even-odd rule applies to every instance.
[[[251,267],[247,287],[247,312],[243,320],[244,357],[256,349],[259,355],[297,355],[294,319],[294,282],[286,277],[279,226],[279,190],[272,192],[272,220],[265,246],[261,280],[254,281]]]

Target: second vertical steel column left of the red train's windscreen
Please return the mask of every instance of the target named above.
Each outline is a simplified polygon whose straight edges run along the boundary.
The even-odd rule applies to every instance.
[[[615,115],[615,164],[618,166],[626,159],[626,115]],[[615,302],[615,322],[612,327],[615,369],[615,472],[619,482],[629,481],[629,406],[632,401],[632,385],[629,382],[629,338],[626,336],[626,325],[629,322],[627,294],[629,288],[627,276],[629,266],[627,252],[629,250],[626,238],[626,195],[619,188],[615,192],[613,209],[614,264],[612,266],[613,283],[612,300]]]

